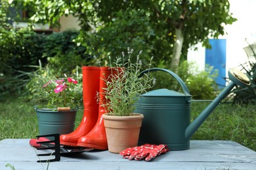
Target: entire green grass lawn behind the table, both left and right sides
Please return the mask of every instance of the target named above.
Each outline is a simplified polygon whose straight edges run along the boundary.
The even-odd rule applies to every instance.
[[[0,101],[0,140],[29,139],[38,135],[34,105],[17,98]],[[193,103],[192,119],[207,105]],[[196,131],[192,140],[231,140],[256,151],[255,110],[255,105],[221,104]],[[82,116],[83,110],[79,109],[75,127],[79,125]]]

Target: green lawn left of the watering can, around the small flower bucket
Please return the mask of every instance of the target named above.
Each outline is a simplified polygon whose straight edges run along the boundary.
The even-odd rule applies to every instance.
[[[35,105],[38,103],[15,98],[0,101],[0,140],[30,139],[39,135]],[[41,106],[39,104],[38,108]],[[75,127],[79,125],[82,116],[83,110],[77,110]]]

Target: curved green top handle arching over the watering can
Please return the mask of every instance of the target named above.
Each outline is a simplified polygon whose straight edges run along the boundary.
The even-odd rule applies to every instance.
[[[169,73],[170,75],[172,75],[178,82],[179,84],[181,85],[182,87],[182,90],[184,92],[184,94],[186,96],[188,96],[188,99],[190,99],[190,93],[189,93],[189,90],[188,90],[188,87],[186,86],[186,84],[183,82],[183,80],[178,76],[176,75],[175,73],[173,73],[172,71],[169,71],[167,69],[160,69],[160,68],[152,68],[152,69],[147,69],[145,71],[142,71],[139,75],[139,77],[143,76],[144,74],[146,73],[149,73],[149,72],[153,72],[153,71],[164,71],[166,73]]]

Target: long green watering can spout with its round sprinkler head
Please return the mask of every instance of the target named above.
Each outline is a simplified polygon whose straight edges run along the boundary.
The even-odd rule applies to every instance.
[[[224,88],[224,90],[219,93],[219,95],[208,105],[199,115],[198,117],[190,123],[188,127],[186,127],[185,130],[185,139],[190,139],[192,135],[196,132],[196,130],[203,124],[205,119],[213,112],[213,110],[221,103],[221,101],[230,93],[232,88],[234,86],[239,85],[239,86],[249,86],[249,78],[244,75],[244,73],[240,72],[237,69],[230,69],[228,71],[228,76],[232,82]]]

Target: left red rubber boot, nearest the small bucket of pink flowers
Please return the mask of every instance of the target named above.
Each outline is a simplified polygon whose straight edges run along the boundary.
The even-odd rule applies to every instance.
[[[75,131],[60,135],[60,144],[77,146],[79,137],[87,135],[98,119],[96,92],[100,84],[100,67],[85,66],[83,70],[83,118]]]

